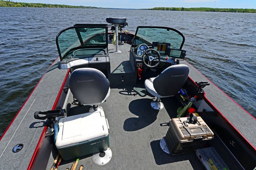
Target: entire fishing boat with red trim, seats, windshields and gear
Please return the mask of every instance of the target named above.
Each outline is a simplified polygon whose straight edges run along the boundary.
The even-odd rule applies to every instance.
[[[180,31],[106,22],[58,33],[0,138],[1,168],[256,168],[255,118],[185,61]]]

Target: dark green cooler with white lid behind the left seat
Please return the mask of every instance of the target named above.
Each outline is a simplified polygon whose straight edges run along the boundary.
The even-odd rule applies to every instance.
[[[56,148],[68,161],[109,148],[109,126],[104,112],[95,111],[59,120]]]

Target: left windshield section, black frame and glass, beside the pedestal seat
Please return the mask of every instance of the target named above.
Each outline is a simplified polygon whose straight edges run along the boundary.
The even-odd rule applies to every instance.
[[[76,49],[107,48],[106,24],[75,25],[66,28],[56,37],[56,45],[62,60]]]

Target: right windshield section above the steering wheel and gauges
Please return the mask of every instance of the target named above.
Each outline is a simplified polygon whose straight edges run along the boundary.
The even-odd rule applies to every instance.
[[[179,31],[167,27],[143,27],[138,26],[133,47],[140,44],[152,46],[152,42],[170,43],[170,48],[182,49],[185,37]]]

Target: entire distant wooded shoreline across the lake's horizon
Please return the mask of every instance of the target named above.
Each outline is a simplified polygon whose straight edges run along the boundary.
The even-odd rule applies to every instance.
[[[72,6],[45,3],[24,3],[0,0],[0,7],[34,7],[34,8],[92,8],[92,9],[124,9],[124,8],[101,8],[95,6]],[[155,7],[143,10],[162,11],[203,11],[203,12],[231,12],[231,13],[256,13],[256,9],[243,8],[176,8],[176,7]]]

